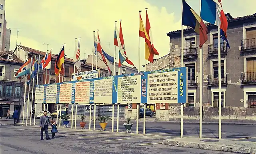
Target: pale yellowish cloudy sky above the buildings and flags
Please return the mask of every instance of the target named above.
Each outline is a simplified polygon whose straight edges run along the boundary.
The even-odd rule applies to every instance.
[[[200,14],[200,0],[186,2]],[[160,53],[155,58],[159,58],[170,50],[166,33],[181,29],[181,4],[182,0],[6,0],[10,50],[16,47],[19,29],[18,44],[40,51],[52,48],[52,53],[58,54],[60,45],[66,43],[65,54],[70,58],[74,55],[75,38],[81,38],[80,53],[84,59],[92,54],[93,31],[99,30],[102,48],[114,56],[114,22],[118,21],[119,29],[122,20],[126,55],[138,67],[139,10],[145,24],[148,8],[154,47]],[[224,12],[233,17],[254,14],[255,4],[252,0],[222,0]],[[144,61],[143,38],[140,44],[140,61]]]

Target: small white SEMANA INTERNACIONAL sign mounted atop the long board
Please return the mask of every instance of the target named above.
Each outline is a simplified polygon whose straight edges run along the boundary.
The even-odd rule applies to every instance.
[[[99,74],[100,74],[99,69],[92,70],[92,71],[72,73],[71,81],[98,78]]]

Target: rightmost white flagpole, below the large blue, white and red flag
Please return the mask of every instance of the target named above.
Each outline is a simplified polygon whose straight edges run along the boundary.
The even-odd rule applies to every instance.
[[[221,71],[220,71],[220,28],[218,27],[218,83],[219,83],[219,139],[221,139]]]

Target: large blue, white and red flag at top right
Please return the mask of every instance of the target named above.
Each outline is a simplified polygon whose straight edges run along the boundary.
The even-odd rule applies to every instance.
[[[201,0],[201,13],[202,20],[214,24],[220,28],[221,38],[227,42],[228,47],[228,21],[222,9],[221,0]]]

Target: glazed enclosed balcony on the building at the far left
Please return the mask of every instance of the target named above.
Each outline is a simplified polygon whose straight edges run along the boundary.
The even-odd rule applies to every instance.
[[[23,100],[23,82],[0,80],[0,100]]]

